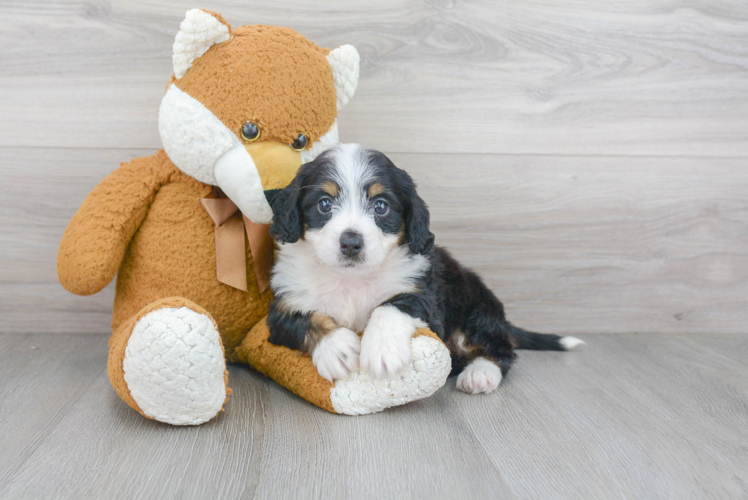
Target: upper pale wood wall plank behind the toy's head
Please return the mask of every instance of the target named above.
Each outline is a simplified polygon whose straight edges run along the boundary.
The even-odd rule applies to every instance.
[[[748,155],[748,4],[206,2],[362,55],[341,135],[386,151]],[[1,146],[157,148],[176,0],[0,6]]]

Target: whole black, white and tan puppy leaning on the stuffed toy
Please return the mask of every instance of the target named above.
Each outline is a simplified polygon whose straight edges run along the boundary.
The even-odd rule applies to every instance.
[[[269,192],[278,241],[270,342],[308,353],[320,375],[396,375],[428,326],[448,346],[457,387],[491,392],[514,349],[567,350],[574,337],[528,332],[474,272],[434,246],[413,180],[382,153],[341,144]],[[359,337],[356,332],[363,331]]]

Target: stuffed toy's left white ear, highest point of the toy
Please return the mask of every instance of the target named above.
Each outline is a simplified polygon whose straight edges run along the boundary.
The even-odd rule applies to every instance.
[[[174,39],[174,76],[182,78],[192,63],[213,45],[231,37],[231,26],[220,15],[200,9],[188,10]]]

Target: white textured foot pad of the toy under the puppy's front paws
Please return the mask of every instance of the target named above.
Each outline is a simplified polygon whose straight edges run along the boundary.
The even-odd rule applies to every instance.
[[[361,371],[335,382],[330,400],[337,413],[366,415],[431,396],[447,381],[452,360],[444,344],[421,335],[410,342],[413,361],[395,378],[373,379]]]

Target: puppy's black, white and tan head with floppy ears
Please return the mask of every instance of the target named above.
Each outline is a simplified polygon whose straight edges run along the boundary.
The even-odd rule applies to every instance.
[[[384,154],[358,144],[341,144],[304,164],[268,199],[270,234],[280,243],[307,242],[338,270],[366,272],[398,246],[426,254],[434,244],[413,179]]]

